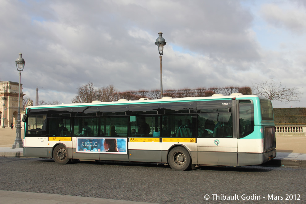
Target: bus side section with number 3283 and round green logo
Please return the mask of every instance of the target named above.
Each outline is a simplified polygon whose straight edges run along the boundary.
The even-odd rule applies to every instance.
[[[198,107],[198,164],[238,166],[236,100],[201,101]]]

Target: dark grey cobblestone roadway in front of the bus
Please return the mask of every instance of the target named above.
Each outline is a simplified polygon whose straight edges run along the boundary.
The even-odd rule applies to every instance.
[[[0,190],[152,203],[306,203],[306,168],[202,167],[177,172],[146,163],[58,165],[53,159],[0,157],[0,172]],[[224,200],[229,196],[236,200]]]

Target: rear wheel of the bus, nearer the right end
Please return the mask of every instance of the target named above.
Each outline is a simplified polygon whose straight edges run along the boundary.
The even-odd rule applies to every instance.
[[[191,168],[191,158],[184,147],[174,147],[168,154],[168,164],[176,171],[185,171]]]

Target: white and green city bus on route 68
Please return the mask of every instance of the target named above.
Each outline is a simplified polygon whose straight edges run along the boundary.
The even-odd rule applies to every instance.
[[[276,156],[269,99],[240,93],[28,106],[23,155],[199,166],[263,164]]]

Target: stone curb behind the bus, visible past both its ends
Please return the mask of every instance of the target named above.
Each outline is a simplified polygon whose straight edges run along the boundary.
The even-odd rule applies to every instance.
[[[0,152],[0,156],[14,156],[14,157],[24,157],[22,151],[17,152]],[[305,160],[296,160],[296,159],[272,159],[264,164],[259,166],[266,167],[298,167],[306,168]]]

